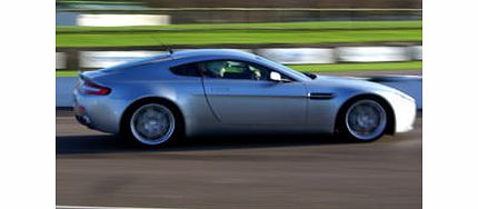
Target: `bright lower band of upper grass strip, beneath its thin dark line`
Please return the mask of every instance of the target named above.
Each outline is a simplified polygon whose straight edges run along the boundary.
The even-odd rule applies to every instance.
[[[158,41],[160,40],[160,41]],[[57,47],[130,47],[163,44],[219,43],[337,43],[421,41],[421,30],[367,31],[211,31],[211,32],[146,32],[118,34],[57,34]]]

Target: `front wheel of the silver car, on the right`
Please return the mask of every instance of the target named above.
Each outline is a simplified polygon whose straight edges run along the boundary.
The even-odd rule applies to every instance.
[[[338,117],[341,137],[353,142],[371,142],[385,135],[390,118],[384,102],[360,98],[345,104]]]

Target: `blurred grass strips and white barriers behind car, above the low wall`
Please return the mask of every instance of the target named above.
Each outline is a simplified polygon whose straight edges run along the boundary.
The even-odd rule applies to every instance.
[[[231,48],[307,72],[421,74],[421,0],[57,0],[57,76]]]

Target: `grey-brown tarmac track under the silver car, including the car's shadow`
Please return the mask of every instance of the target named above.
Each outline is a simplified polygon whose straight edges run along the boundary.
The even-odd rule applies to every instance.
[[[191,139],[131,148],[57,111],[57,205],[421,208],[421,116],[372,143],[327,137]]]

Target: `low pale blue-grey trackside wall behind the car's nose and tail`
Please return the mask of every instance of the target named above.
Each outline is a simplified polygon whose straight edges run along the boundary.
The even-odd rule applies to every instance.
[[[72,107],[73,88],[77,82],[76,77],[57,77],[57,108]],[[421,77],[417,76],[381,76],[366,78],[366,80],[379,82],[396,88],[416,100],[417,109],[421,109]]]

